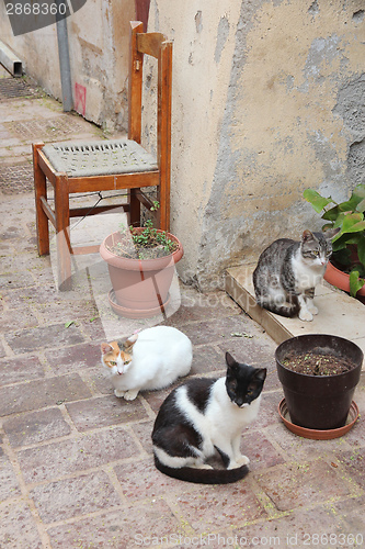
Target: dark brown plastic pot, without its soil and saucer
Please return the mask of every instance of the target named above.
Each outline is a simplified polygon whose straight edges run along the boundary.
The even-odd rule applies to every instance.
[[[344,357],[354,368],[335,376],[307,376],[283,366],[289,352],[320,351]],[[292,423],[309,429],[337,429],[346,423],[363,365],[363,351],[342,337],[308,334],[292,337],[276,349],[277,376]]]

